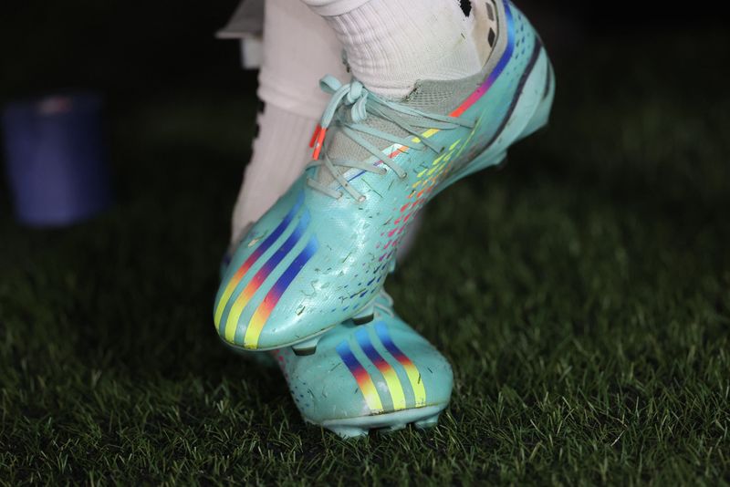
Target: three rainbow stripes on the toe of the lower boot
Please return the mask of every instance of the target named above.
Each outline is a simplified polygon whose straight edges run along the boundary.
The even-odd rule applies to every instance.
[[[382,347],[391,354],[393,358],[398,362],[400,367],[408,377],[409,384],[413,392],[413,403],[412,408],[420,408],[426,405],[426,390],[422,383],[421,373],[412,360],[407,357],[400,348],[396,347],[392,341],[391,335],[388,332],[388,326],[384,322],[378,322],[375,324],[375,331],[377,337],[381,341]],[[406,409],[409,407],[406,399],[401,379],[398,377],[396,367],[393,367],[387,358],[383,357],[378,352],[375,345],[370,340],[370,335],[367,328],[360,328],[355,332],[355,341],[357,345],[368,357],[372,365],[380,372],[382,378],[385,380],[385,385],[390,394],[392,410],[397,411]],[[355,356],[352,348],[349,345],[349,341],[345,340],[337,347],[339,357],[349,368],[352,377],[360,387],[360,392],[365,399],[368,408],[372,414],[377,414],[383,410],[381,393],[375,387],[372,379],[372,375],[368,372],[368,368],[360,363],[360,360]],[[373,370],[373,373],[377,374]]]

